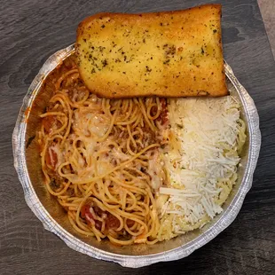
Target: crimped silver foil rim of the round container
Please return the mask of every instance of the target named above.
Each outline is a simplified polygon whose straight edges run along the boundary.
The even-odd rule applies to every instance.
[[[232,72],[232,68],[225,62],[225,74],[230,79],[231,83],[238,91],[240,95],[241,103],[244,107],[245,113],[248,117],[248,132],[249,132],[249,148],[248,152],[248,164],[242,178],[240,188],[236,193],[234,199],[228,208],[223,212],[221,218],[219,218],[215,224],[213,224],[206,232],[200,234],[196,239],[188,242],[187,244],[154,255],[118,255],[109,253],[98,248],[93,248],[90,245],[84,243],[82,240],[78,240],[62,228],[43,207],[35,194],[35,189],[30,181],[27,173],[27,163],[25,154],[25,134],[26,134],[26,119],[25,111],[28,106],[31,106],[35,96],[39,90],[40,85],[43,83],[43,79],[48,75],[51,70],[56,67],[62,59],[65,59],[72,51],[74,51],[75,45],[72,44],[66,49],[57,51],[40,69],[39,74],[35,76],[34,81],[31,83],[27,90],[27,95],[23,99],[23,105],[20,108],[20,114],[18,116],[15,128],[12,134],[12,150],[14,157],[14,167],[18,173],[20,183],[24,190],[25,200],[27,205],[34,212],[35,216],[43,223],[46,230],[55,233],[61,240],[64,240],[69,248],[73,248],[83,254],[90,255],[94,258],[112,261],[114,263],[120,263],[124,267],[138,268],[153,263],[168,262],[177,259],[184,258],[187,255],[193,253],[194,250],[207,244],[208,241],[214,239],[217,234],[224,231],[226,227],[232,224],[240,212],[243,200],[252,186],[253,173],[255,170],[256,162],[260,152],[261,145],[261,132],[259,130],[259,116],[254,104],[253,99],[249,96],[248,91],[239,83],[236,76]]]

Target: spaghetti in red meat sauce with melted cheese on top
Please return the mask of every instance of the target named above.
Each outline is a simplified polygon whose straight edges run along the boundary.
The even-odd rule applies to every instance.
[[[74,56],[51,86],[39,133],[48,191],[77,232],[117,245],[156,242],[160,224],[147,168],[163,146],[165,100],[97,98],[79,78]]]

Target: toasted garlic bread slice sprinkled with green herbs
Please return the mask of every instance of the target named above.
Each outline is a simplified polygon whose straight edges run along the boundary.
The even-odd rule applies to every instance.
[[[142,14],[99,13],[77,29],[78,68],[104,98],[227,94],[221,5]]]

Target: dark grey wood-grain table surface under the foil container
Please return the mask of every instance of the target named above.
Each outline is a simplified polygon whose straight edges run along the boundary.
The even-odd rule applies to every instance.
[[[96,12],[223,4],[224,58],[255,100],[263,145],[253,188],[229,228],[193,255],[131,270],[67,247],[27,207],[13,168],[12,130],[43,62]],[[256,0],[2,1],[0,8],[0,274],[275,274],[275,64]]]

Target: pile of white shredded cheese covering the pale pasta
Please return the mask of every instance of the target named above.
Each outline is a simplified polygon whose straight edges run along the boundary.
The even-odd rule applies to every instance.
[[[169,199],[160,212],[162,222],[172,216],[166,226],[177,234],[199,228],[223,211],[216,200],[223,188],[217,183],[232,178],[240,161],[240,106],[228,96],[170,99],[168,108],[170,148],[164,155],[170,184],[160,194]],[[164,233],[162,239],[169,236]]]

